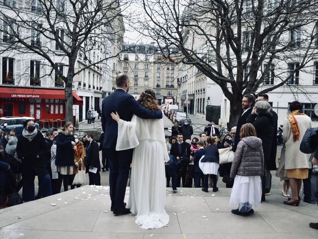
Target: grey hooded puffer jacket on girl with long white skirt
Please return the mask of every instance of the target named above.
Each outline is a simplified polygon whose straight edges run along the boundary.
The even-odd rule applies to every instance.
[[[230,177],[261,176],[264,172],[262,140],[254,136],[244,137],[239,141],[231,167]]]

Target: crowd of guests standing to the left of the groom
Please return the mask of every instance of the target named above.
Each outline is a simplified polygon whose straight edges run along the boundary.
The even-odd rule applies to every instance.
[[[100,185],[99,171],[108,170],[108,163],[105,155],[100,161],[100,147],[93,135],[79,139],[72,122],[66,122],[61,130],[48,129],[44,134],[32,119],[25,120],[23,127],[19,136],[15,135],[14,128],[1,132],[1,208],[6,207],[8,196],[21,188],[22,200],[28,202],[60,193],[62,184],[64,191],[80,187],[78,180],[73,182],[82,170],[88,173],[89,185]],[[37,195],[35,176],[38,177]]]

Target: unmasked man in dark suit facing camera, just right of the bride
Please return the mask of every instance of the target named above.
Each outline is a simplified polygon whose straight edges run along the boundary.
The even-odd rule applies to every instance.
[[[187,169],[187,164],[190,160],[190,145],[186,142],[183,142],[183,135],[182,133],[178,133],[177,141],[171,145],[170,154],[173,155],[177,161],[181,160],[178,164],[177,168],[177,187],[180,187],[180,182],[182,178],[182,187],[185,187],[185,174]]]

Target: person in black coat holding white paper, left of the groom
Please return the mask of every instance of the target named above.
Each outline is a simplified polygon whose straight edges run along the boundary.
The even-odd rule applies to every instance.
[[[99,146],[94,137],[88,134],[88,146],[86,151],[86,173],[88,172],[89,185],[100,185],[100,161]]]

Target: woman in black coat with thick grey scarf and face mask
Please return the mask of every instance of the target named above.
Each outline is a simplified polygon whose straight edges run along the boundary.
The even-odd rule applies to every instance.
[[[22,162],[22,199],[28,202],[35,199],[35,176],[38,176],[39,181],[38,198],[52,195],[52,187],[44,157],[46,153],[44,137],[36,129],[32,119],[25,120],[23,127],[22,134],[18,137],[16,152]]]

